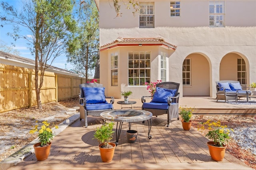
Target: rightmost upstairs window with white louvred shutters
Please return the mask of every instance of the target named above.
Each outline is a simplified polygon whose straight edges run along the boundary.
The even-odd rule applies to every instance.
[[[224,27],[225,22],[225,1],[210,1],[209,2],[209,26]]]

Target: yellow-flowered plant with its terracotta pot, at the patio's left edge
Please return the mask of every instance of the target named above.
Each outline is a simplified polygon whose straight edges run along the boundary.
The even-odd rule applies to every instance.
[[[38,121],[36,121],[36,123],[37,122]],[[52,129],[50,129],[50,123],[47,121],[43,121],[42,123],[43,125],[40,129],[38,129],[38,125],[36,125],[34,129],[30,130],[31,134],[38,132],[39,142],[34,144],[37,160],[46,160],[48,158],[50,148],[52,146],[52,142],[50,142],[50,140],[52,140],[54,136]],[[55,128],[57,129],[58,126],[55,126]]]

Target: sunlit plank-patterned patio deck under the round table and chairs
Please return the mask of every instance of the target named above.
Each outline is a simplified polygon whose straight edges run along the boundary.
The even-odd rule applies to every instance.
[[[167,115],[152,118],[152,139],[147,138],[147,121],[132,123],[132,130],[138,131],[135,143],[127,142],[128,123],[124,123],[114,158],[112,162],[104,163],[100,158],[98,142],[92,140],[94,129],[101,125],[101,119],[89,116],[88,128],[83,127],[84,120],[78,119],[54,137],[47,160],[37,161],[31,154],[10,170],[251,169],[227,152],[222,162],[212,160],[207,138],[194,129],[184,131],[178,120],[172,121],[170,127],[166,127],[166,123]]]

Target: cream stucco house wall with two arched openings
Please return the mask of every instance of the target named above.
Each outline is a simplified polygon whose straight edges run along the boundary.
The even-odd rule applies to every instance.
[[[204,80],[208,81],[206,86],[208,89],[200,91],[201,95],[209,94],[211,97],[216,95],[216,83],[220,79],[231,78],[225,73],[220,74],[220,71],[227,69],[226,73],[236,72],[236,65],[234,62],[237,57],[242,57],[246,61],[247,69],[247,83],[256,81],[256,1],[255,0],[226,0],[226,18],[224,28],[209,28],[209,1],[208,0],[180,0],[181,2],[181,17],[170,17],[170,1],[157,0],[155,1],[155,28],[138,28],[138,14],[134,17],[132,10],[124,9],[122,6],[121,18],[115,18],[116,14],[114,8],[110,7],[108,0],[100,0],[100,45],[112,42],[118,37],[122,38],[156,38],[162,37],[166,42],[177,45],[174,53],[170,53],[168,58],[168,81],[180,83],[179,92],[181,96],[196,95],[197,93],[188,93],[185,88],[182,88],[182,62],[190,55],[200,54],[196,65],[199,67],[200,63],[204,67],[198,68],[199,73],[201,69],[208,70],[204,73]],[[238,12],[242,11],[242,12]],[[126,47],[118,47],[121,50],[120,57],[127,57],[127,51],[137,50],[138,47],[129,47],[131,49],[121,49]],[[151,51],[152,59],[154,55],[159,55],[159,49],[152,47],[145,47],[145,51]],[[124,51],[123,51],[124,50]],[[101,51],[101,65],[103,61],[108,58],[110,63],[110,50]],[[230,53],[236,53],[236,59],[232,61],[225,61],[230,57]],[[224,57],[225,56],[225,57]],[[233,55],[234,56],[234,55]],[[227,58],[226,58],[227,57]],[[103,58],[103,59],[102,59]],[[195,57],[196,58],[196,57]],[[103,61],[102,61],[103,60]],[[127,86],[127,60],[120,60],[122,65],[122,75],[118,73],[118,90],[132,90],[136,93],[133,98],[137,96],[148,95],[146,87],[129,87]],[[225,61],[225,62],[224,62]],[[208,66],[207,66],[208,63]],[[224,65],[223,68],[220,68]],[[105,63],[104,63],[105,65]],[[233,65],[232,68],[230,68]],[[152,60],[151,79],[156,81],[159,78],[158,61]],[[110,67],[103,66],[100,69],[100,82],[108,84],[109,93],[117,91],[116,87],[110,85]],[[107,71],[108,69],[109,71]],[[158,71],[156,71],[158,70]],[[156,72],[155,72],[156,71]],[[208,75],[208,77],[207,77]],[[121,76],[121,77],[119,77]],[[224,77],[223,77],[224,76]],[[192,82],[199,81],[199,75],[193,77]],[[234,80],[237,77],[232,77]],[[120,83],[120,85],[119,85]],[[192,84],[192,87],[195,88]],[[183,91],[184,89],[184,91]],[[118,97],[118,96],[117,96]],[[139,98],[140,98],[139,97]]]

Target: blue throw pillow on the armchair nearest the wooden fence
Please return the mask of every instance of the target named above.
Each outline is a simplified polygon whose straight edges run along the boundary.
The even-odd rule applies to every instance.
[[[86,103],[105,103],[105,87],[82,87]]]

